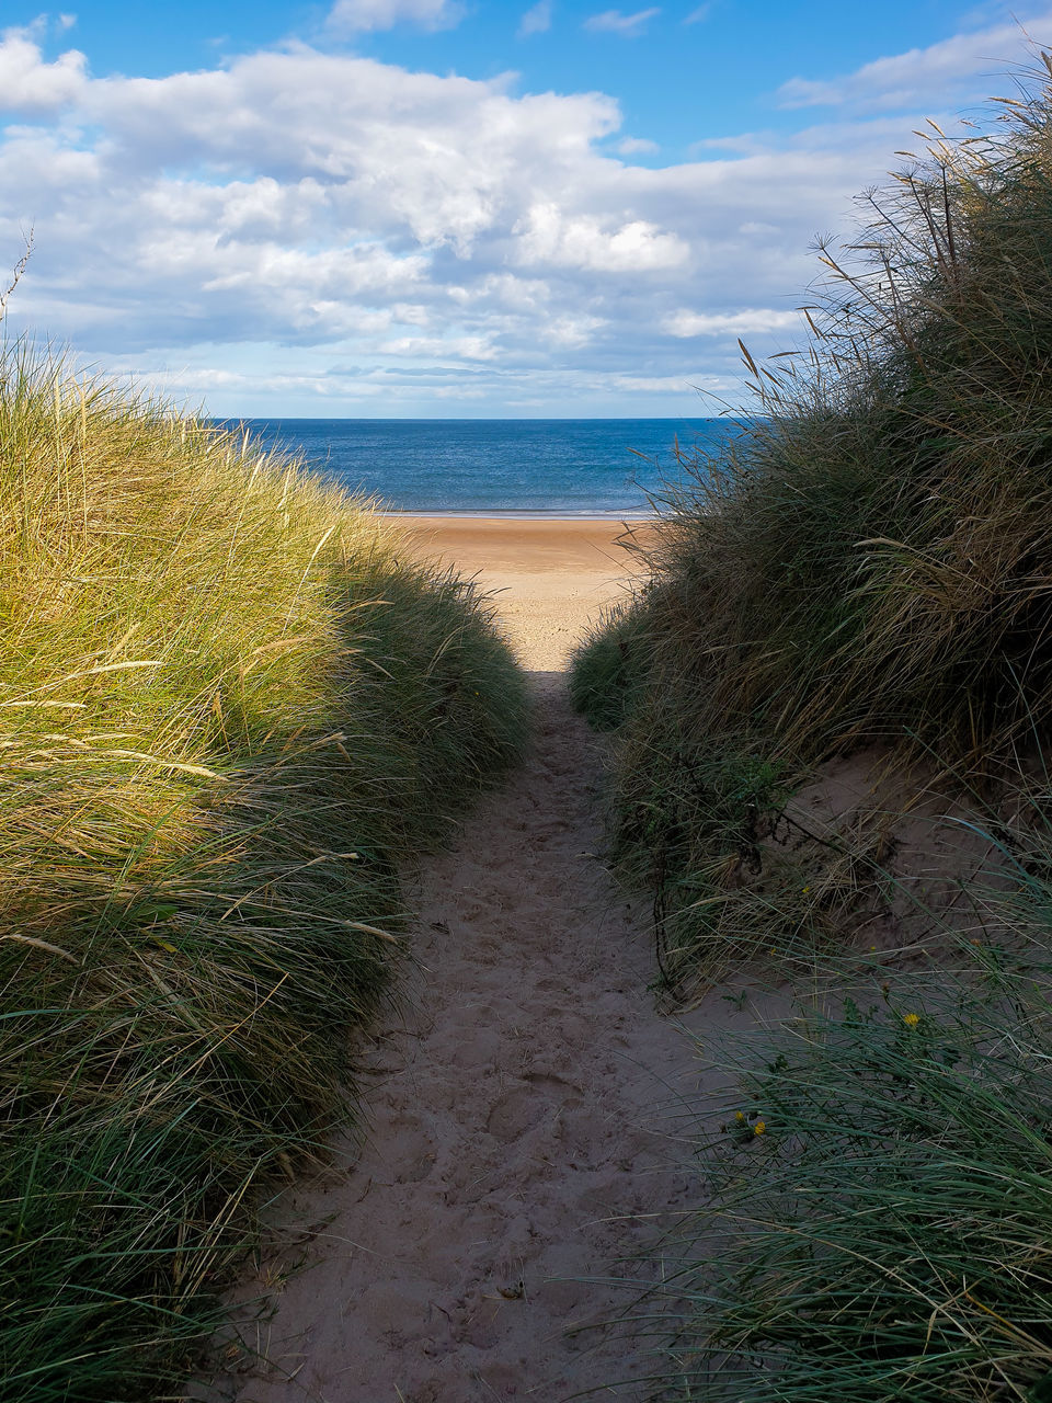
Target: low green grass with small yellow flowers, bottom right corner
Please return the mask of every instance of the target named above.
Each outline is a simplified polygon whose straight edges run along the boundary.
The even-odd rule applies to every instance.
[[[718,1052],[703,1207],[638,1306],[655,1397],[1042,1403],[1052,1386],[1049,932]]]

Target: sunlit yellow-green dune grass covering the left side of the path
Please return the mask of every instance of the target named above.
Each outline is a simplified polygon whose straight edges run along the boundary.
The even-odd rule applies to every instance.
[[[0,558],[0,1396],[161,1397],[523,685],[362,504],[24,347]]]

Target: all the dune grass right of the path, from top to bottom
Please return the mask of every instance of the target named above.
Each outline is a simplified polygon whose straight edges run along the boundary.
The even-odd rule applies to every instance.
[[[985,135],[934,139],[863,198],[807,344],[745,352],[756,421],[687,456],[649,581],[574,664],[612,732],[612,847],[654,892],[659,985],[687,999],[766,962],[808,995],[781,1031],[707,1044],[738,1090],[640,1308],[655,1397],[1052,1399],[1041,63]],[[808,796],[851,763],[868,811],[816,828]],[[958,880],[915,833],[954,911],[895,860],[940,803],[1000,864]],[[865,922],[884,989],[849,954]]]

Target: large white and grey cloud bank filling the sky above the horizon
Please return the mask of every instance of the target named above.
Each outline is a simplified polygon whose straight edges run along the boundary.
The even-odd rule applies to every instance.
[[[642,166],[600,93],[306,45],[95,79],[36,38],[0,36],[0,267],[36,230],[13,330],[216,412],[690,412],[687,386],[734,384],[739,335],[793,340],[815,231],[917,121]]]

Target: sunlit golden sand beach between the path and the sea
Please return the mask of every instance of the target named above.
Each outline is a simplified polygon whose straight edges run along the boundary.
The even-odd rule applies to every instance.
[[[494,593],[523,666],[548,672],[641,563],[630,549],[645,522],[610,518],[391,516],[414,554],[478,579]]]

